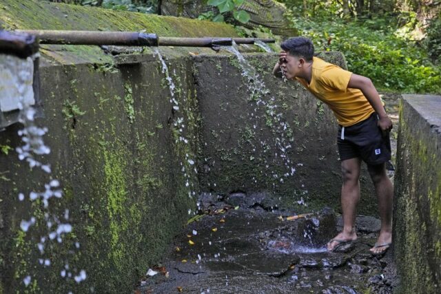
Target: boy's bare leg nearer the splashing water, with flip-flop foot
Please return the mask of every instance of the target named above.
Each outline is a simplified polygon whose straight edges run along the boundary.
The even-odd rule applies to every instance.
[[[355,241],[357,239],[355,230],[356,207],[360,200],[360,158],[350,158],[342,160],[342,212],[343,212],[343,231],[336,238],[327,244],[327,249],[332,251],[342,241]]]

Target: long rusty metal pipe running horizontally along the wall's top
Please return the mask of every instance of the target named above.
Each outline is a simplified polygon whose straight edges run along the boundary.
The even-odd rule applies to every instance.
[[[179,38],[158,37],[156,34],[142,32],[101,32],[78,30],[17,30],[37,36],[41,44],[69,45],[131,45],[131,46],[176,46],[176,47],[213,47],[238,44],[252,44],[256,40],[274,43],[274,39],[256,38]]]

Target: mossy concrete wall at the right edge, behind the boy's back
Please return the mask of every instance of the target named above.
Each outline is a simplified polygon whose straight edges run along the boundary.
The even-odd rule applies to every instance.
[[[441,96],[404,95],[396,158],[396,292],[440,293]]]

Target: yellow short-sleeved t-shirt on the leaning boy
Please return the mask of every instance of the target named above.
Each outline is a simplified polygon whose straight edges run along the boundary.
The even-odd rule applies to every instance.
[[[296,78],[309,92],[329,105],[339,125],[349,127],[375,112],[359,89],[348,88],[351,72],[314,57],[311,83]]]

